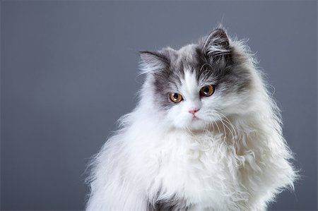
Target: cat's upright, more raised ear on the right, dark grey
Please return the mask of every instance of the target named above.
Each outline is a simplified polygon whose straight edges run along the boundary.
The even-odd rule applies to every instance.
[[[202,45],[202,52],[208,61],[216,62],[230,59],[230,42],[225,30],[222,28],[213,30]]]

